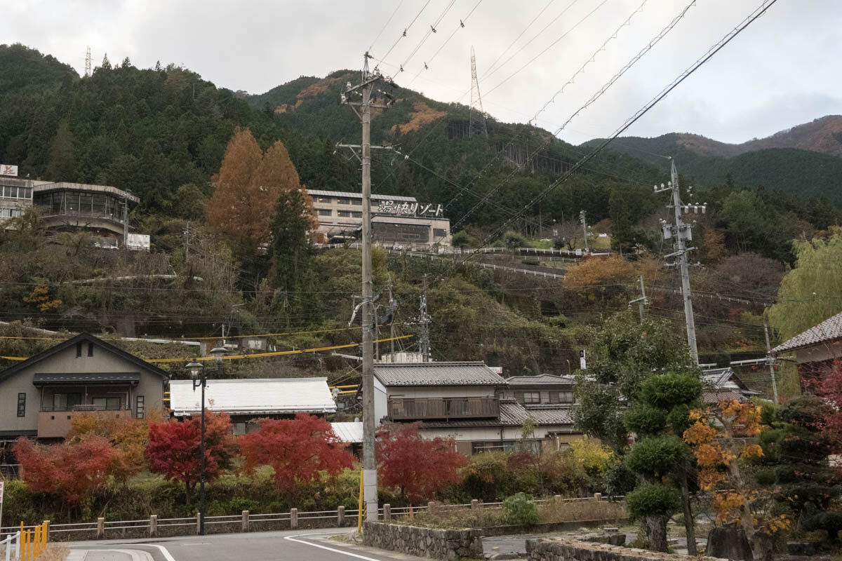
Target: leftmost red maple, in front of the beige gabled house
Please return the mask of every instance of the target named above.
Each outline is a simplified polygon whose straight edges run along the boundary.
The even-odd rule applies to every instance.
[[[47,446],[19,438],[13,451],[29,489],[61,496],[68,511],[82,502],[88,490],[108,480],[120,457],[103,437]]]

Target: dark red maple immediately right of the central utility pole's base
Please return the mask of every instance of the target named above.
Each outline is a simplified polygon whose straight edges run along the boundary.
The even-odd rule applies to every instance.
[[[456,452],[452,438],[422,438],[418,423],[381,426],[376,453],[381,484],[400,489],[410,504],[430,500],[448,484],[459,483],[459,468],[468,459]]]

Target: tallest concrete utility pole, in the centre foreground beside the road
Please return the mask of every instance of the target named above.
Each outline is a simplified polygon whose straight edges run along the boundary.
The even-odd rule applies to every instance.
[[[365,500],[368,521],[377,520],[377,460],[375,458],[375,421],[374,418],[374,345],[372,301],[373,286],[371,279],[371,108],[388,108],[394,99],[387,93],[376,90],[383,77],[377,71],[369,73],[369,54],[365,53],[360,83],[352,86],[350,82],[341,94],[341,103],[350,105],[362,122],[362,144],[360,161],[362,163],[362,199],[363,199],[363,263],[362,263],[362,331],[363,331],[363,498]],[[391,82],[388,81],[388,82]],[[386,103],[377,103],[377,93],[386,98]],[[354,99],[352,101],[352,98]],[[357,110],[357,108],[360,108]]]

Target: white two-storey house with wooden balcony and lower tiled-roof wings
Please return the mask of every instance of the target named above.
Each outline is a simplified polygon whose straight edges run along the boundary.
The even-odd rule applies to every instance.
[[[557,449],[581,437],[570,405],[521,404],[484,363],[376,363],[374,377],[378,424],[418,421],[424,437],[452,437],[461,453],[520,445],[530,417],[538,423],[527,436],[533,447]]]

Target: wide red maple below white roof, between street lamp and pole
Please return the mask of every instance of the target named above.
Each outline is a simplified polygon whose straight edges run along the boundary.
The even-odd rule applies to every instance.
[[[258,431],[237,440],[246,468],[272,466],[275,484],[285,491],[316,479],[320,471],[338,474],[353,461],[328,421],[302,413],[295,419],[263,421]]]

